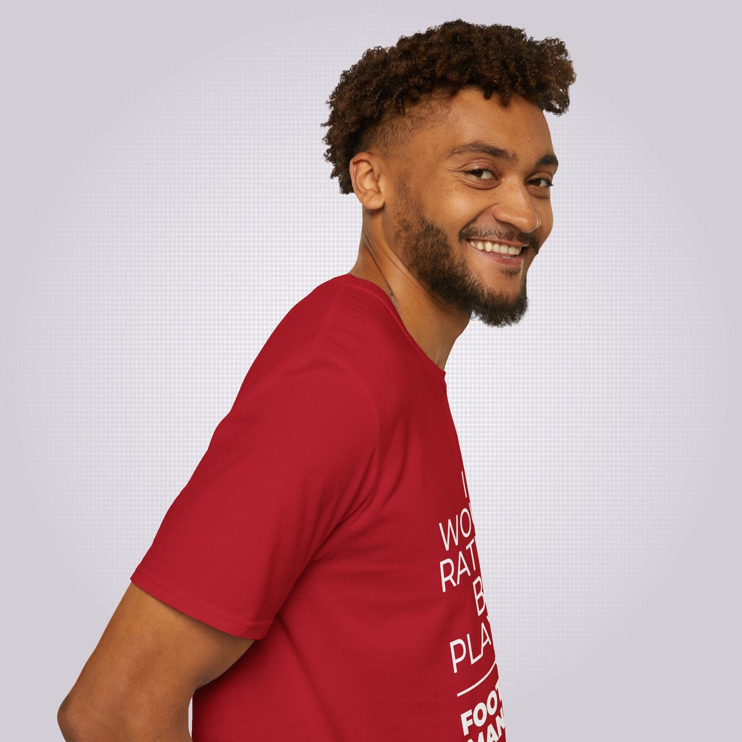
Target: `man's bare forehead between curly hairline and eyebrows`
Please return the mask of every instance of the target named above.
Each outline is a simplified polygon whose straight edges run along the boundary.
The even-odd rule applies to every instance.
[[[462,88],[448,103],[447,116],[418,131],[410,142],[415,154],[444,160],[467,142],[488,142],[507,148],[523,162],[538,152],[553,151],[546,117],[538,106],[513,95],[502,105],[497,93],[485,99],[480,88]]]

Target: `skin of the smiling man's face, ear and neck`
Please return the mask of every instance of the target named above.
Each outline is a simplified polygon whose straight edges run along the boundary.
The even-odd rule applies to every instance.
[[[456,338],[476,315],[503,326],[528,306],[526,275],[551,233],[550,182],[556,164],[543,112],[521,96],[502,105],[494,94],[462,88],[447,116],[407,137],[398,148],[371,147],[349,163],[363,206],[352,275],[381,286],[425,354],[445,367]],[[449,157],[470,142],[516,154],[511,164],[491,154]],[[473,172],[467,172],[473,171]],[[505,266],[466,237],[525,244],[521,266]]]

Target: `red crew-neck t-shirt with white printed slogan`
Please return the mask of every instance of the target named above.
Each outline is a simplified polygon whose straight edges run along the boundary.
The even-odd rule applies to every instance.
[[[445,372],[375,283],[280,321],[131,580],[258,640],[194,742],[505,742]]]

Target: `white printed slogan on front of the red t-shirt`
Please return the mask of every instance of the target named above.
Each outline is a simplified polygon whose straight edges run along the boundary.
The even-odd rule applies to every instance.
[[[462,471],[464,505],[459,512],[439,522],[441,539],[447,556],[440,560],[441,592],[470,591],[476,605],[478,623],[462,629],[462,635],[449,642],[451,669],[459,677],[477,679],[456,694],[467,697],[471,706],[461,715],[462,732],[467,742],[498,742],[504,739],[505,718],[502,713],[499,678],[497,677],[495,651],[492,643],[490,620],[487,615],[482,575],[476,551],[476,536],[471,517],[466,479]],[[481,671],[476,672],[476,670]],[[492,675],[494,671],[494,675]],[[489,685],[487,680],[489,679]]]

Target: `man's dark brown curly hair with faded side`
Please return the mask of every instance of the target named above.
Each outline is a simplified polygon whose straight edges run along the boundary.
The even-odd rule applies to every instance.
[[[398,147],[440,120],[446,101],[465,85],[478,85],[485,99],[498,93],[502,105],[516,94],[561,116],[575,79],[564,42],[537,42],[512,26],[458,19],[401,36],[393,47],[373,47],[341,74],[326,101],[331,110],[322,141],[330,177],[338,178],[341,193],[352,193],[349,162],[355,154]]]

